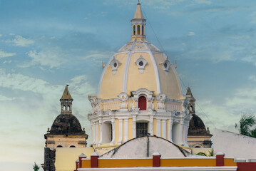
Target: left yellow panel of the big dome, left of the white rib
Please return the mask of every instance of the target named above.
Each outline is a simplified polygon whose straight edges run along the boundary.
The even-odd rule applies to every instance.
[[[113,74],[110,65],[106,69],[101,83],[100,98],[117,98],[117,95],[123,92],[123,73],[126,66],[127,53],[118,54],[115,58],[121,65],[118,67],[115,74]],[[115,83],[115,88],[113,88],[113,83]]]

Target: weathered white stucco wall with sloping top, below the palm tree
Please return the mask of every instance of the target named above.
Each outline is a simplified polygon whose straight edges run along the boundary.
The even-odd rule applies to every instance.
[[[215,129],[213,134],[215,152],[224,152],[225,157],[256,159],[256,138]]]

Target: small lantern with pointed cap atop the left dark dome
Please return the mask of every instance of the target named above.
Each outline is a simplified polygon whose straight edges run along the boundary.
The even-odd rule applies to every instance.
[[[60,101],[61,101],[61,114],[72,114],[73,98],[71,97],[68,91],[68,85],[66,85]]]

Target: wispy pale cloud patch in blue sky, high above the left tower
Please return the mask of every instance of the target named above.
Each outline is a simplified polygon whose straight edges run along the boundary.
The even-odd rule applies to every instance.
[[[66,54],[60,48],[46,48],[43,51],[29,51],[26,53],[32,61],[21,64],[20,67],[29,67],[34,65],[48,66],[50,68],[58,68],[66,63]]]

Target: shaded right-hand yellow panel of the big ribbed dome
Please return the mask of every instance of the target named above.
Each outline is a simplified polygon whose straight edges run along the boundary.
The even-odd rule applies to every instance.
[[[158,65],[158,73],[160,77],[160,85],[162,93],[165,93],[168,98],[180,99],[180,86],[178,84],[177,76],[173,71],[172,67],[169,68],[168,75],[166,75],[163,67],[160,66],[160,63],[165,61],[165,57],[160,53],[154,53],[155,61]]]

